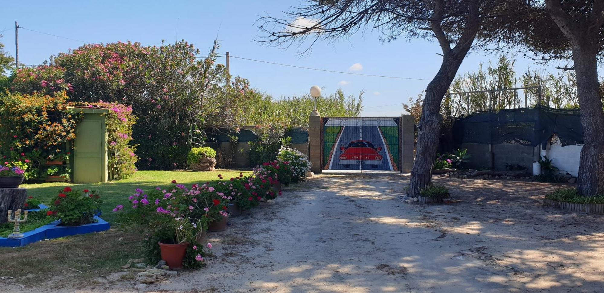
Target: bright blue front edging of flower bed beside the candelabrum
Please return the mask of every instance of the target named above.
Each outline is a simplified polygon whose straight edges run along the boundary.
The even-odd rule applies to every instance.
[[[79,226],[59,226],[61,221],[57,220],[23,233],[25,235],[23,238],[8,239],[0,237],[0,247],[19,247],[44,239],[109,230],[109,222],[98,218],[98,216],[95,216],[94,219],[96,219],[97,222]]]

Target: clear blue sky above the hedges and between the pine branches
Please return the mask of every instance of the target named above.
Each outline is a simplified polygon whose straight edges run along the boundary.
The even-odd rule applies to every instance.
[[[367,31],[332,43],[316,43],[310,54],[300,57],[297,48],[279,49],[254,42],[259,36],[259,16],[282,16],[281,11],[300,1],[9,1],[2,6],[1,42],[14,54],[14,21],[23,28],[56,34],[85,42],[131,40],[158,45],[185,39],[207,52],[218,36],[221,52],[288,65],[362,74],[431,79],[441,57],[437,43],[428,40],[397,40],[380,43],[378,34]],[[82,42],[19,30],[19,61],[42,63],[50,55],[77,48]],[[460,73],[478,68],[478,63],[496,60],[496,55],[474,52],[464,60]],[[224,58],[220,58],[224,62]],[[355,63],[361,66],[351,68]],[[541,68],[518,58],[516,69]],[[556,71],[550,65],[547,71]],[[352,70],[360,69],[361,70]],[[428,81],[362,77],[347,74],[257,63],[231,58],[231,74],[248,78],[252,87],[280,96],[302,95],[312,85],[324,93],[341,88],[347,95],[365,91],[364,116],[398,116],[400,105],[425,89]]]

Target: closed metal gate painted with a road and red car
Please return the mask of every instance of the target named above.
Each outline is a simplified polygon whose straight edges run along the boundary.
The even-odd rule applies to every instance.
[[[322,127],[324,170],[400,170],[400,117],[325,117]]]

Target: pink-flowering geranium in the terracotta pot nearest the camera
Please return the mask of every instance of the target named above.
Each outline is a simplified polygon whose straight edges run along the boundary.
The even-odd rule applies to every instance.
[[[173,181],[176,184],[176,181]],[[147,255],[161,257],[170,268],[199,267],[204,264],[204,253],[196,246],[207,221],[196,218],[196,207],[201,194],[196,187],[191,190],[181,184],[171,189],[156,187],[152,192],[137,189],[128,200],[131,209],[118,205],[114,212],[122,211],[118,222],[146,236]]]

